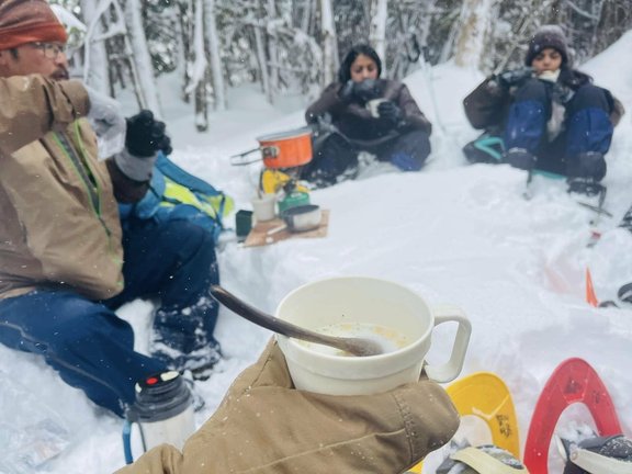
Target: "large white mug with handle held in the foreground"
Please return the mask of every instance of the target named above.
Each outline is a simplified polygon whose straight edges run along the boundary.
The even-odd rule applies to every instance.
[[[386,392],[417,382],[422,369],[436,382],[450,382],[463,368],[472,332],[470,320],[460,308],[431,307],[403,285],[365,276],[332,278],[303,285],[283,298],[275,315],[320,332],[337,328],[329,331],[335,336],[365,336],[353,334],[356,329],[345,334],[345,328],[359,324],[396,342],[392,351],[379,356],[346,357],[336,353],[336,349],[276,335],[295,387],[329,395]],[[459,325],[449,361],[425,364],[432,330],[447,321]]]

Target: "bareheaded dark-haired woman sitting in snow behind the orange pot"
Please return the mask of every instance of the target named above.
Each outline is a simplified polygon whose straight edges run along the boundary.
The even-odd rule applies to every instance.
[[[368,151],[402,171],[418,171],[430,154],[432,126],[408,88],[381,78],[382,61],[365,44],[351,48],[338,80],[305,112],[313,125],[314,157],[302,178],[318,188],[356,176]]]

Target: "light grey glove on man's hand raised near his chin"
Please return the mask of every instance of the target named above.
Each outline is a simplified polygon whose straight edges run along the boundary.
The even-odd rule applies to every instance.
[[[90,100],[88,120],[97,134],[99,156],[109,158],[123,149],[125,143],[125,117],[121,105],[109,95],[86,88]]]

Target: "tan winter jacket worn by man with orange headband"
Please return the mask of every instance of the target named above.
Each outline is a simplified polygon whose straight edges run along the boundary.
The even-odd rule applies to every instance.
[[[112,179],[122,177],[97,159],[81,119],[86,90],[41,76],[0,78],[0,298],[42,286],[114,296],[123,250]]]

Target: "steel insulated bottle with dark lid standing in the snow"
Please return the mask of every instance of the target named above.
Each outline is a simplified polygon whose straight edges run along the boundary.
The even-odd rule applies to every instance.
[[[140,432],[143,451],[167,443],[182,449],[195,431],[193,398],[179,372],[166,371],[149,375],[135,385],[136,402],[126,414],[123,427],[125,462],[132,454],[132,426]]]

